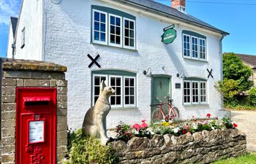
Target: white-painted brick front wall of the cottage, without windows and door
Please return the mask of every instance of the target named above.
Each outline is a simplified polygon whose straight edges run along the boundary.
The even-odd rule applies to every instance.
[[[114,3],[114,2],[111,2]],[[116,47],[91,44],[91,5],[100,5],[120,9],[137,18],[138,50],[126,50]],[[91,71],[99,70],[97,66],[88,68],[91,60],[87,54],[100,55],[102,69],[121,69],[137,72],[137,106],[136,109],[112,109],[107,118],[108,128],[115,127],[119,121],[130,124],[142,119],[150,120],[151,78],[143,75],[143,70],[151,67],[153,74],[172,76],[172,97],[182,118],[205,117],[211,113],[217,117],[222,109],[219,93],[214,88],[220,80],[219,40],[221,36],[211,31],[192,27],[165,17],[140,11],[138,9],[118,7],[99,0],[62,1],[53,4],[45,0],[44,19],[45,60],[67,66],[68,80],[68,125],[69,128],[80,128],[84,114],[91,106]],[[165,23],[163,23],[165,22]],[[172,44],[161,42],[162,29],[176,23],[177,38]],[[182,30],[195,31],[207,36],[208,62],[182,58]],[[162,70],[165,66],[165,70]],[[208,79],[208,105],[183,106],[182,90],[175,89],[175,83],[183,83],[176,77],[181,70],[187,77],[207,79],[206,69],[213,69],[214,79]]]

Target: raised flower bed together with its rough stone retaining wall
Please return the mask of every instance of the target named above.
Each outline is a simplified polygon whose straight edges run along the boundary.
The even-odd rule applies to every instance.
[[[110,143],[119,163],[211,163],[246,153],[246,136],[230,119],[121,123]],[[124,130],[125,127],[125,130]],[[128,137],[127,137],[128,136]],[[124,139],[125,138],[125,139]]]

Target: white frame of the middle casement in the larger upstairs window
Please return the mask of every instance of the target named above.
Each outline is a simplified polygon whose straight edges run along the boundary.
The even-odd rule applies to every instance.
[[[114,44],[114,43],[111,43],[110,42],[110,26],[111,26],[111,24],[110,24],[110,17],[118,17],[118,18],[120,18],[120,44]],[[113,47],[123,47],[123,33],[122,33],[122,28],[123,28],[123,19],[122,19],[122,17],[120,17],[120,16],[118,16],[118,15],[113,15],[113,14],[108,14],[108,45],[110,45],[110,46],[113,46]],[[115,20],[115,23],[116,23],[116,20]],[[116,25],[115,25],[115,27],[116,27]],[[116,32],[116,29],[115,29],[115,32]],[[116,36],[116,34],[115,34],[115,36]]]

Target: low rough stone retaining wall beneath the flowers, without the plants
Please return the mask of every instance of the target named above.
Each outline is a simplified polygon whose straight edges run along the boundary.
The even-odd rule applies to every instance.
[[[246,154],[246,136],[238,129],[203,130],[182,136],[154,135],[112,143],[119,163],[211,163]]]

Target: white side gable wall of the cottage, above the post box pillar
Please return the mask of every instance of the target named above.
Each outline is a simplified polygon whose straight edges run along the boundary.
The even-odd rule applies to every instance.
[[[23,0],[16,36],[15,58],[42,60],[42,1]],[[21,47],[21,31],[26,28],[25,47]]]

